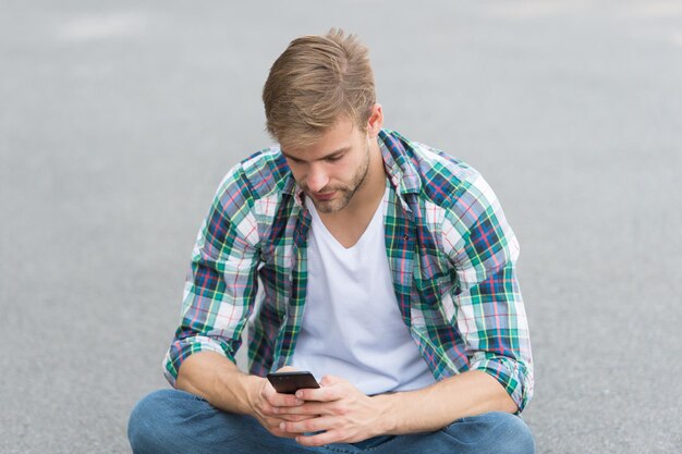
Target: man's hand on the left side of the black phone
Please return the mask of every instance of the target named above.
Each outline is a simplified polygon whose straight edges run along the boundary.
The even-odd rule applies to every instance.
[[[278,372],[295,370],[292,367],[283,367]],[[272,384],[267,379],[261,379],[259,385],[253,393],[251,400],[252,416],[255,417],[263,427],[277,437],[294,438],[295,433],[290,433],[281,429],[284,422],[300,422],[314,416],[291,413],[294,408],[303,405],[303,400],[293,394],[280,394],[275,391]]]

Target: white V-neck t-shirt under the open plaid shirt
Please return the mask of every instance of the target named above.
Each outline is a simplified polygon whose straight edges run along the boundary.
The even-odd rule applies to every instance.
[[[292,366],[342,377],[364,393],[421,389],[435,382],[402,320],[386,255],[388,189],[358,242],[343,247],[315,206],[307,248],[307,297]]]

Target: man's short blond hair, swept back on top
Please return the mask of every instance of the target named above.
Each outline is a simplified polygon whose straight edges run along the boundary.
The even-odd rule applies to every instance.
[[[340,28],[291,41],[263,87],[267,130],[280,144],[318,140],[342,115],[366,131],[376,102],[368,51]]]

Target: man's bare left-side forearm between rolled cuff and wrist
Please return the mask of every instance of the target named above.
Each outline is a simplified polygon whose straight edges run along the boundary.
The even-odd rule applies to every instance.
[[[183,361],[175,388],[204,397],[226,412],[252,415],[253,395],[260,380],[242,372],[218,353],[200,352]]]

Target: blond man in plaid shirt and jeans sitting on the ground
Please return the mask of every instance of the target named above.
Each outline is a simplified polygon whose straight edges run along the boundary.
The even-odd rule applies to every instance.
[[[217,192],[166,357],[174,390],[137,404],[133,451],[533,452],[519,245],[490,187],[382,128],[367,50],[341,30],[292,41],[263,99],[279,147]],[[281,369],[321,388],[277,393],[263,377]]]

